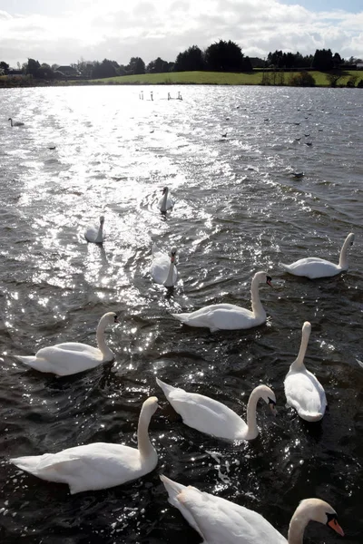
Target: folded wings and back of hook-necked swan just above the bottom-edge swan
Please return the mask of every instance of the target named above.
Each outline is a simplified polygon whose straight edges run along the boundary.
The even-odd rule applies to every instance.
[[[230,440],[245,431],[246,423],[237,413],[210,397],[174,389],[168,398],[175,411],[182,415],[183,423],[197,431]]]

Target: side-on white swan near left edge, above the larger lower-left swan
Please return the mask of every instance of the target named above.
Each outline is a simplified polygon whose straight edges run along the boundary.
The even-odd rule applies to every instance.
[[[113,352],[106,345],[103,336],[106,326],[113,323],[119,323],[113,312],[108,312],[101,317],[96,332],[98,348],[79,342],[64,342],[43,347],[32,356],[15,355],[15,357],[35,370],[51,372],[58,376],[83,372],[98,364],[113,361]]]

